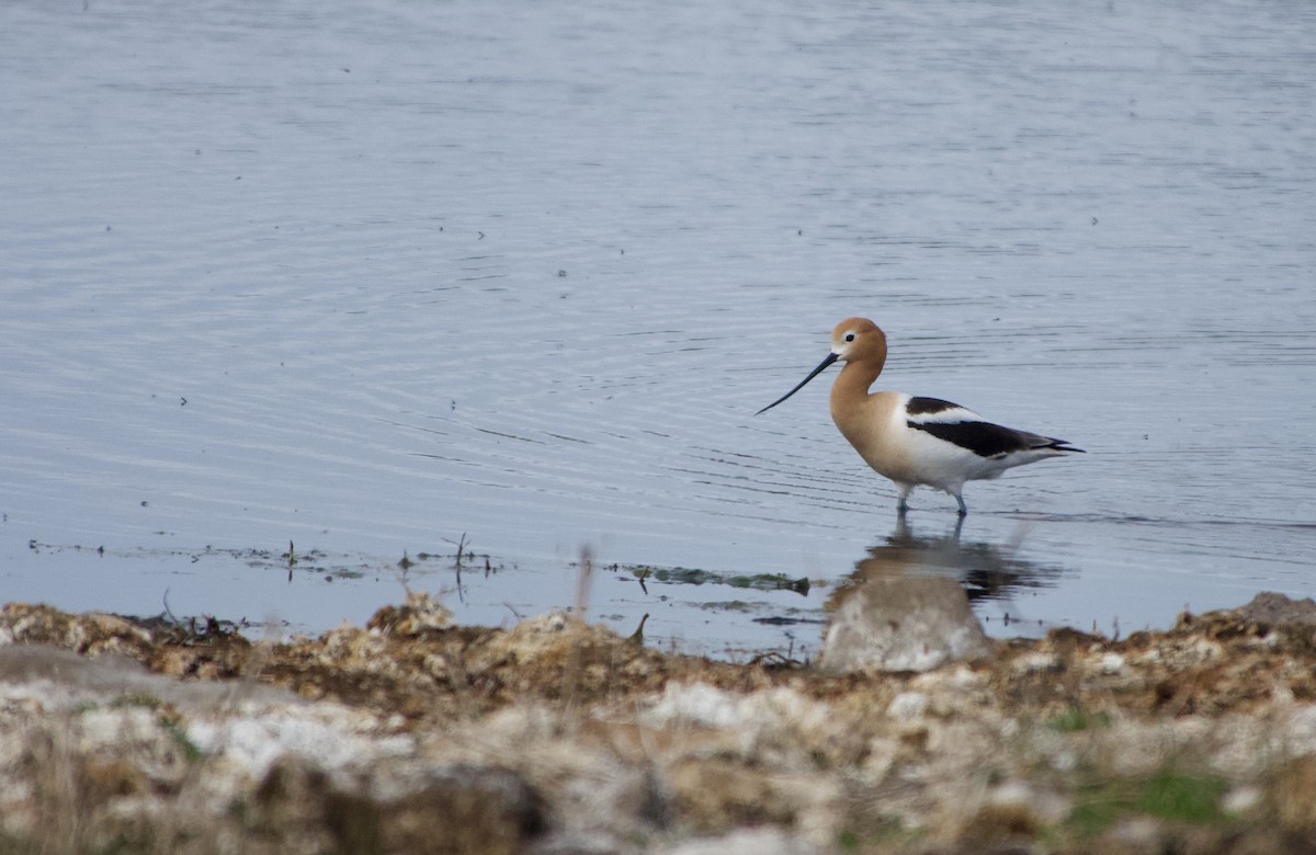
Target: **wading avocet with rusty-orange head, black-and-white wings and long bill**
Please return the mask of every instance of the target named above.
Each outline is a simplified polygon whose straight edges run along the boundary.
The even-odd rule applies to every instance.
[[[791,397],[836,360],[845,363],[832,385],[832,421],[869,466],[890,477],[908,509],[919,484],[945,491],[965,506],[965,481],[999,477],[1005,470],[1061,456],[1075,449],[1065,439],[1003,428],[978,413],[936,397],[874,392],[869,387],[887,362],[887,337],[867,318],[846,318],[832,331],[832,353],[799,385],[759,413]],[[758,413],[755,413],[757,416]]]

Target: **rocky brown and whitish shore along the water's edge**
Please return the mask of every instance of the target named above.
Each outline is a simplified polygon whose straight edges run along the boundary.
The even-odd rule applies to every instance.
[[[1316,604],[924,672],[674,656],[551,614],[253,642],[0,613],[0,848],[1316,851]]]

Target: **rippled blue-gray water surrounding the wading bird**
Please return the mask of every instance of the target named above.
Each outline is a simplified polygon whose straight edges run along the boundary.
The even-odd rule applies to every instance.
[[[1312,596],[1313,9],[0,4],[0,600],[811,655],[911,538],[996,635]],[[1088,454],[898,529],[825,378],[753,416],[851,314]]]

